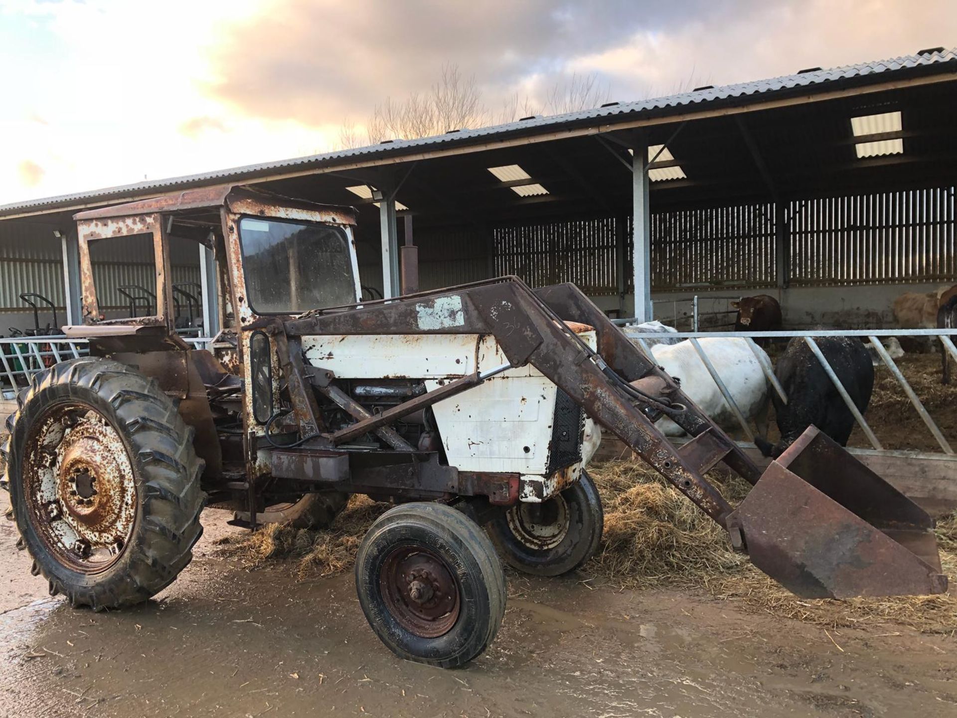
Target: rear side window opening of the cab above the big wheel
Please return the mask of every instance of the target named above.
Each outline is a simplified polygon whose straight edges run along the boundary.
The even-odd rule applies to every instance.
[[[111,236],[92,240],[88,246],[103,318],[156,316],[153,235]]]

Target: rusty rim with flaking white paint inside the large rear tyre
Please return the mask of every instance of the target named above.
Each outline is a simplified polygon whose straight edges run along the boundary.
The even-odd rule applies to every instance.
[[[137,488],[125,444],[100,412],[78,402],[47,408],[27,436],[23,487],[33,527],[61,564],[95,573],[119,560]]]

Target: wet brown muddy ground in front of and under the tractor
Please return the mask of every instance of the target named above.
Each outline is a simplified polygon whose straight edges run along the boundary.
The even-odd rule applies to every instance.
[[[0,495],[6,509],[7,495]],[[401,662],[351,576],[249,571],[204,514],[196,558],[144,606],[46,595],[0,520],[2,716],[953,716],[957,638],[826,631],[703,591],[618,591],[511,572],[499,638],[456,671]]]

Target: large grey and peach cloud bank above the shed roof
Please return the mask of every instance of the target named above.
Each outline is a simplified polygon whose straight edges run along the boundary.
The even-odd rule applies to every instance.
[[[630,101],[946,44],[952,3],[270,0],[211,49],[207,91],[243,116],[327,124],[428,90],[454,63],[493,111],[515,93],[541,106],[572,73]]]

